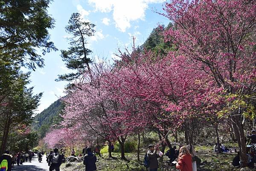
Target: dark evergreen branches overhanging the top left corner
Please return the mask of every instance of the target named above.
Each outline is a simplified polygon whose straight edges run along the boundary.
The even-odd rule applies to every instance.
[[[49,41],[54,20],[47,13],[51,0],[0,0],[0,58],[11,55],[20,65],[35,70],[44,66],[42,54],[57,50]]]

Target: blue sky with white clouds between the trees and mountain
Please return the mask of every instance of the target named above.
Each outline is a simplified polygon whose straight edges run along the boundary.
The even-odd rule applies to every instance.
[[[169,20],[156,12],[162,12],[165,0],[55,0],[49,6],[49,14],[55,19],[55,28],[50,30],[51,41],[61,49],[69,47],[65,39],[69,35],[64,27],[73,12],[79,12],[84,20],[96,24],[95,36],[87,39],[87,48],[93,51],[90,57],[96,59],[116,58],[118,48],[131,47],[132,36],[136,46],[144,43],[152,29]],[[45,67],[32,72],[30,86],[34,93],[43,92],[40,113],[59,97],[64,96],[65,81],[56,82],[58,75],[68,73],[61,60],[60,51],[44,56]]]

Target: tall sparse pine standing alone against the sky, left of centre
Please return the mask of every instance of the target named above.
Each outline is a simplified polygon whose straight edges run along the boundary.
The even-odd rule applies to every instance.
[[[75,70],[69,74],[59,75],[57,81],[72,81],[77,78],[83,78],[85,72],[90,72],[90,55],[91,50],[86,48],[86,38],[93,36],[95,25],[90,22],[85,22],[81,18],[81,14],[73,13],[65,27],[66,32],[71,35],[68,38],[70,47],[68,50],[61,50],[62,60],[66,62],[67,68]]]

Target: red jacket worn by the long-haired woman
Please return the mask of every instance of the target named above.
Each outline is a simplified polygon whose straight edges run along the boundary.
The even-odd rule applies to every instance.
[[[176,168],[180,171],[192,171],[192,157],[191,155],[182,155],[176,164]]]

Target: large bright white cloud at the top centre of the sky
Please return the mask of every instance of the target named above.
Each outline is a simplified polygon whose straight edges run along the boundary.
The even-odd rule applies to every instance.
[[[113,11],[113,20],[116,28],[125,32],[131,27],[130,22],[135,20],[144,20],[145,10],[150,3],[162,3],[165,0],[88,0],[95,6],[96,11]]]

